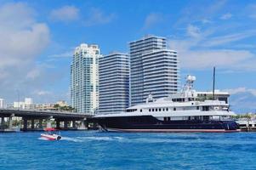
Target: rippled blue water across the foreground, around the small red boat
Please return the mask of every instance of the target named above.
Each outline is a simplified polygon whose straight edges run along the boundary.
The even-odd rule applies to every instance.
[[[0,169],[256,169],[256,133],[0,133]]]

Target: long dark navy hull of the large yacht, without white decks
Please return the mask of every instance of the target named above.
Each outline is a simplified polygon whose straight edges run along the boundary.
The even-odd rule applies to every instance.
[[[231,133],[239,132],[234,121],[161,121],[154,116],[97,117],[94,122],[110,132],[147,133]]]

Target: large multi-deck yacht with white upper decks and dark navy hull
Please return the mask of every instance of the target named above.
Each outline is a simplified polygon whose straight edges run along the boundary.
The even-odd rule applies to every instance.
[[[168,98],[153,99],[129,107],[119,114],[97,115],[92,121],[100,129],[115,132],[238,132],[231,119],[236,114],[229,104],[218,99],[202,99],[193,89],[196,77],[186,77],[183,90]],[[213,95],[214,96],[214,95]]]

